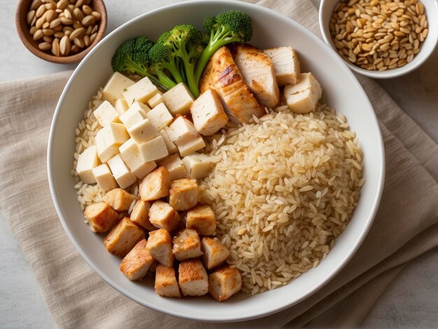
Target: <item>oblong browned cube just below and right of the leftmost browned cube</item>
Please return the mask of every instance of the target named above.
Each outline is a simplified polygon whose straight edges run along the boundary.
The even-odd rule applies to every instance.
[[[125,217],[104,238],[106,250],[119,257],[125,257],[129,251],[145,238],[143,230]]]

